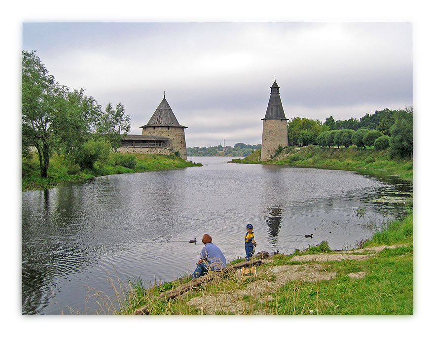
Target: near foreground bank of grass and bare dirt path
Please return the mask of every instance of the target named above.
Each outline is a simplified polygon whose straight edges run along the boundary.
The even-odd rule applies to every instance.
[[[188,275],[148,289],[141,279],[113,282],[116,299],[100,299],[108,304],[101,312],[130,314],[146,304],[151,314],[412,314],[412,219],[409,212],[386,224],[356,250],[331,251],[324,242],[273,255],[257,266],[255,279],[214,272],[213,281],[171,301],[158,295],[186,283]]]

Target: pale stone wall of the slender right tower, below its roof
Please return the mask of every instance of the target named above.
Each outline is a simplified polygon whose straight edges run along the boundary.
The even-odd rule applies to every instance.
[[[285,119],[264,119],[263,139],[261,141],[261,161],[270,160],[275,155],[279,146],[289,146],[287,136],[287,120]]]

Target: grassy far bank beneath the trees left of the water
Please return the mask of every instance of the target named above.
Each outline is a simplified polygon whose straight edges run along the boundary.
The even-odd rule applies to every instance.
[[[132,159],[132,156],[135,160]],[[122,166],[122,164],[128,167]],[[68,182],[83,181],[102,175],[181,169],[192,166],[202,166],[202,164],[196,164],[191,161],[187,162],[175,155],[126,155],[111,153],[106,163],[97,162],[92,169],[81,170],[78,165],[72,165],[63,156],[55,154],[50,159],[50,166],[47,172],[48,177],[41,178],[37,154],[34,153],[31,160],[23,160],[23,191],[46,189]]]

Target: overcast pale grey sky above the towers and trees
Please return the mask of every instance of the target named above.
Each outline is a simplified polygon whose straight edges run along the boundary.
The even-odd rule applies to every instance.
[[[70,88],[121,102],[141,134],[163,99],[186,143],[261,143],[276,76],[286,117],[413,105],[411,23],[23,23],[23,49]]]

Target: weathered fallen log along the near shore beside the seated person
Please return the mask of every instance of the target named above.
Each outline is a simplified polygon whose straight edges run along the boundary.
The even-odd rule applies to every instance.
[[[230,272],[232,270],[241,269],[242,267],[252,267],[255,265],[261,265],[263,263],[263,258],[269,255],[268,252],[259,252],[258,254],[253,256],[253,259],[251,261],[245,261],[240,262],[235,265],[227,266],[226,268],[222,269],[219,272]],[[172,300],[181,294],[185,293],[186,291],[189,291],[195,287],[200,286],[201,284],[210,281],[213,278],[213,275],[208,273],[204,276],[191,279],[189,282],[185,284],[181,284],[179,287],[168,290],[167,292],[164,292],[158,296],[158,298],[165,299],[165,300]],[[140,307],[139,309],[136,309],[133,312],[133,315],[149,315],[149,309],[147,305],[144,305]]]

